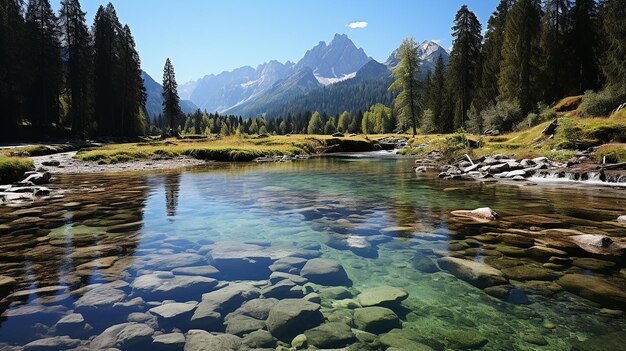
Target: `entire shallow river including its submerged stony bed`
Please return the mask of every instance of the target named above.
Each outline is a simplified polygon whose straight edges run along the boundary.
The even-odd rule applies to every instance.
[[[278,318],[273,298],[304,295],[323,315],[306,328],[334,323],[305,333],[319,348],[625,345],[623,255],[591,253],[570,239],[622,240],[626,227],[616,219],[626,214],[626,190],[457,183],[411,166],[410,159],[342,157],[62,176],[55,186],[63,196],[0,207],[0,276],[15,280],[0,279],[0,350],[29,343],[26,350],[175,350],[185,337],[185,350],[200,350],[190,329],[237,334],[232,349],[274,349],[304,330],[269,322]],[[450,214],[487,206],[498,220]],[[317,260],[330,267],[307,267],[316,258],[332,260]],[[239,290],[202,297],[228,284]],[[359,295],[381,286],[401,290],[385,288],[374,303]],[[171,300],[190,307],[154,309]],[[258,311],[246,312],[253,305]],[[357,316],[361,305],[393,312],[368,321]],[[126,334],[110,328],[128,322],[119,327]],[[271,333],[246,337],[256,329]]]

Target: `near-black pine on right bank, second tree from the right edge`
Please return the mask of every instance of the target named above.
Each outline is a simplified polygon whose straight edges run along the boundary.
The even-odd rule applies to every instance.
[[[596,0],[575,0],[570,11],[568,61],[571,82],[567,94],[597,90],[601,84],[598,5]]]

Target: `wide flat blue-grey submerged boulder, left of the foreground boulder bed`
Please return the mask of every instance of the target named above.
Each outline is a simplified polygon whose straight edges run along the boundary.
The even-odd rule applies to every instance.
[[[186,301],[211,291],[217,280],[201,276],[177,276],[171,272],[155,272],[137,277],[131,287],[134,295],[156,300]]]

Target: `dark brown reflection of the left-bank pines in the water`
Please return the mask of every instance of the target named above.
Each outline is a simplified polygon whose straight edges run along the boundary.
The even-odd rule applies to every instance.
[[[17,281],[15,290],[67,285],[73,291],[98,281],[119,279],[132,264],[132,259],[127,258],[137,249],[136,233],[149,190],[145,177],[85,175],[62,181],[66,181],[63,188],[72,189],[63,198],[26,207],[41,209],[39,217],[44,219],[36,226],[47,228],[45,231],[35,230],[37,235],[30,236],[5,234],[6,241],[13,245],[0,246],[0,268],[3,275]],[[25,208],[16,209],[20,210]],[[16,218],[19,216],[11,213],[0,214],[0,222],[9,226]],[[68,228],[65,232],[54,230],[63,223]],[[15,224],[18,230],[24,226]],[[114,263],[98,269],[101,263],[96,261],[105,257]],[[53,295],[59,292],[41,293],[30,299],[50,299]],[[22,301],[28,298],[25,296]],[[0,303],[0,314],[10,302]],[[0,334],[1,331],[0,325]]]

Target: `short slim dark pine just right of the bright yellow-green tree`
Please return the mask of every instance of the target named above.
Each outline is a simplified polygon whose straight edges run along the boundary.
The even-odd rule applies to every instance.
[[[452,130],[452,121],[446,113],[446,66],[443,57],[439,55],[435,71],[433,72],[430,87],[428,88],[428,98],[425,109],[432,112],[433,132],[443,133]]]

